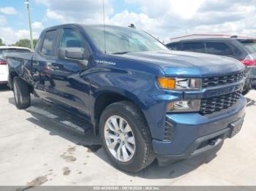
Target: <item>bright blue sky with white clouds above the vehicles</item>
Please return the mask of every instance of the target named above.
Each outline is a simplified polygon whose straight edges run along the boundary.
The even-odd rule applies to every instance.
[[[33,37],[61,23],[103,23],[103,0],[30,0]],[[104,0],[105,23],[146,31],[163,42],[188,34],[256,36],[256,0]],[[0,38],[29,39],[24,0],[0,1]]]

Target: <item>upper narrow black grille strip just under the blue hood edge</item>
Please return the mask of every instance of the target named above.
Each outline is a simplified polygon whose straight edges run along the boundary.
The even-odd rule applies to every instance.
[[[238,74],[233,74],[224,77],[206,77],[202,79],[202,87],[214,87],[217,85],[225,85],[232,82],[237,82],[245,77],[245,71],[241,71]]]

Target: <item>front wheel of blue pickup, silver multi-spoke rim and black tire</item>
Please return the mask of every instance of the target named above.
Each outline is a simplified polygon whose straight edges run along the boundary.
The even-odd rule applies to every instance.
[[[154,161],[146,120],[129,101],[107,106],[99,120],[99,136],[113,165],[123,171],[138,172]]]

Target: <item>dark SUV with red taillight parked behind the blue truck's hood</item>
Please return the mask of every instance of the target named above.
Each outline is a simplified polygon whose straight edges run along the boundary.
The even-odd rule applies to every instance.
[[[170,50],[202,52],[236,58],[246,66],[243,94],[256,90],[256,39],[245,36],[190,35],[175,38],[166,44]],[[175,42],[178,41],[178,42]]]

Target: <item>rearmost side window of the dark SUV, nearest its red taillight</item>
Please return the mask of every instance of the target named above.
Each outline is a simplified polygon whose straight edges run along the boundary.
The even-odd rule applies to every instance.
[[[212,55],[233,56],[233,52],[227,44],[222,42],[206,42],[206,53]]]

